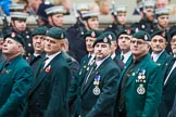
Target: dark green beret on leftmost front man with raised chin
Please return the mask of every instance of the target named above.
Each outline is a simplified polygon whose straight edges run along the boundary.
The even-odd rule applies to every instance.
[[[7,38],[13,39],[24,47],[24,39],[22,38],[21,35],[17,35],[15,32],[10,32],[3,38],[3,40],[5,40]]]

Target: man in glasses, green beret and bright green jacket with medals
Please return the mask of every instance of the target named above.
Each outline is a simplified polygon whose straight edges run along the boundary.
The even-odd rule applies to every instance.
[[[117,84],[114,117],[159,117],[163,77],[148,54],[149,40],[146,31],[134,34],[130,40],[133,60],[126,64]]]

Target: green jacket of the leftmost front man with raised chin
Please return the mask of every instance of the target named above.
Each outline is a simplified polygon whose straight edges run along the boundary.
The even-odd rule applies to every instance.
[[[0,66],[0,117],[20,117],[32,84],[33,72],[18,55]]]

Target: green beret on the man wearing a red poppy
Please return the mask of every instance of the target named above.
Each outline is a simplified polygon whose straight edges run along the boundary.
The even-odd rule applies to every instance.
[[[46,36],[61,40],[61,39],[65,39],[66,32],[62,28],[51,27],[51,28],[49,28],[49,30],[47,30]]]

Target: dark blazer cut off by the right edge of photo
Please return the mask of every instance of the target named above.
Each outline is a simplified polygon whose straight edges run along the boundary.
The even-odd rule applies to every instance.
[[[165,64],[164,78],[166,79],[175,61],[169,58]],[[166,83],[163,86],[162,101],[159,108],[160,117],[167,117],[168,112],[173,107],[176,93],[176,68],[171,73]]]

